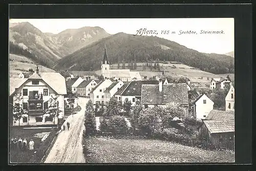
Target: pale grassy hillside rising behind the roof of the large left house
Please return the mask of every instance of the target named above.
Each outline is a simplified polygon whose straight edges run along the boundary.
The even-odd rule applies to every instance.
[[[18,78],[18,74],[28,72],[30,68],[35,69],[36,63],[24,56],[10,54],[10,77]],[[38,66],[39,72],[55,72],[52,69]]]

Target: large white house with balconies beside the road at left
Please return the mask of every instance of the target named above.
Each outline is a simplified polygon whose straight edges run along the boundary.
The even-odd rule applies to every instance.
[[[27,79],[10,79],[10,124],[57,124],[58,119],[64,116],[64,95],[66,94],[66,82],[63,76],[59,73],[39,73],[38,67],[36,72]],[[16,95],[21,95],[23,100],[18,101]],[[55,118],[44,114],[44,110],[49,106],[48,100],[52,97],[57,97],[58,107],[61,111]],[[12,106],[16,103],[22,104],[23,110],[28,112],[19,121],[13,118]]]

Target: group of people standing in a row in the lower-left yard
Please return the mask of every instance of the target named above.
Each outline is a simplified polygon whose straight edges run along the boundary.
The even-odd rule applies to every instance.
[[[35,142],[31,139],[29,141],[29,149],[33,150],[34,149]],[[17,149],[19,148],[20,150],[26,150],[27,149],[27,140],[26,138],[22,140],[19,138],[18,140],[16,138],[12,138],[10,142],[10,147],[11,149]]]

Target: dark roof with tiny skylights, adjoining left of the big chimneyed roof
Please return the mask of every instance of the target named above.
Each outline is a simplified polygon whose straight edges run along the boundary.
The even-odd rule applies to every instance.
[[[158,80],[132,81],[121,95],[122,96],[141,96],[142,84],[159,84],[159,81]]]

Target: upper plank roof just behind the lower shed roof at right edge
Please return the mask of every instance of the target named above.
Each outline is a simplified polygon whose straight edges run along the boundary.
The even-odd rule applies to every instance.
[[[230,120],[234,119],[234,112],[212,110],[206,116],[205,120]]]

